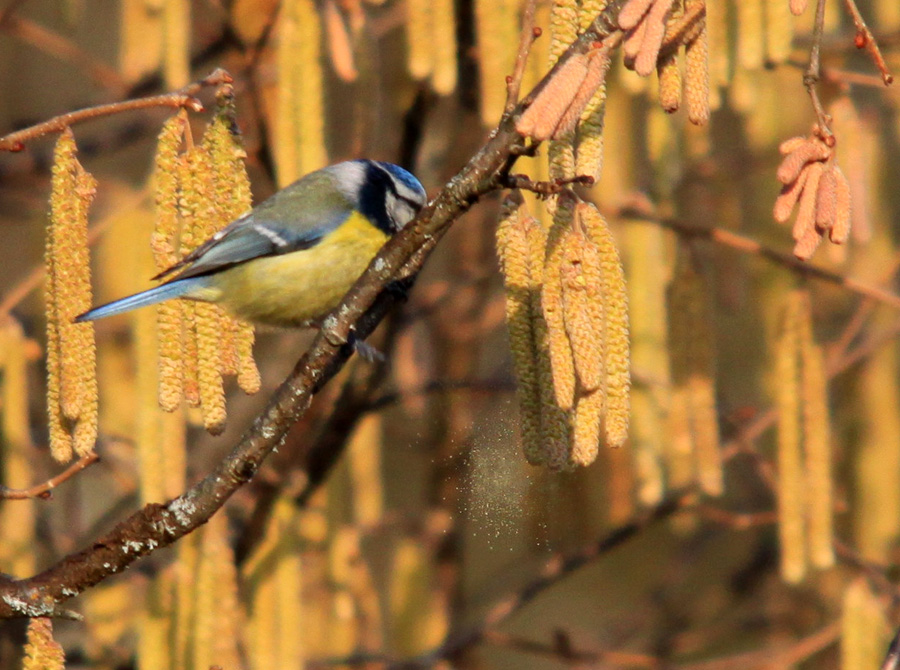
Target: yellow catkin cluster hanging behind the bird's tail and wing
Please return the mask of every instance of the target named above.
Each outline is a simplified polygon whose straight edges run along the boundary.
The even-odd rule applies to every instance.
[[[152,246],[166,272],[191,249],[250,208],[250,182],[243,149],[233,135],[230,98],[222,99],[203,141],[182,151],[187,117],[169,119],[156,155],[156,227]],[[169,301],[157,308],[159,406],[177,410],[182,401],[199,407],[213,435],[225,429],[223,377],[237,377],[247,393],[260,387],[253,360],[253,327],[211,303]]]

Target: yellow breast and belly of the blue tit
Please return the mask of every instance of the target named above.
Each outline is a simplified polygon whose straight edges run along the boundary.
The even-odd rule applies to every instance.
[[[330,312],[387,241],[361,214],[303,251],[248,261],[215,277],[217,302],[237,316],[299,326]]]

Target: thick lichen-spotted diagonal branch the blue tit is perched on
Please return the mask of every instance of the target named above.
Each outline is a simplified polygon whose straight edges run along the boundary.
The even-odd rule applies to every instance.
[[[619,0],[613,0],[562,55],[538,84],[542,90],[569,58],[616,28]],[[466,166],[395,235],[370,263],[288,378],[231,453],[202,481],[165,504],[147,505],[117,524],[88,548],[66,556],[33,577],[0,583],[0,618],[40,616],[142,556],[168,546],[204,524],[259,469],[282,443],[288,429],[307,410],[313,396],[343,367],[353,352],[353,337],[365,338],[398,299],[385,290],[398,279],[414,277],[448,228],[483,195],[501,188],[500,176],[514,151],[523,146],[515,120],[505,117]],[[308,447],[304,447],[307,448]],[[309,458],[305,462],[308,462]]]

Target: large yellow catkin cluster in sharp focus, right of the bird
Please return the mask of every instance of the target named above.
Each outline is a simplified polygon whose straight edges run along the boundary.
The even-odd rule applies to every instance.
[[[555,470],[588,465],[628,431],[627,295],[609,228],[564,193],[544,230],[514,192],[497,248],[525,456]]]

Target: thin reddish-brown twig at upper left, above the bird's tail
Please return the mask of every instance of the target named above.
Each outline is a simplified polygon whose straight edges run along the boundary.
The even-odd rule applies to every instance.
[[[35,126],[17,130],[4,137],[0,137],[0,151],[21,151],[25,148],[25,142],[43,137],[48,133],[61,132],[71,125],[97,119],[113,114],[121,114],[122,112],[130,112],[137,109],[150,109],[153,107],[173,107],[176,109],[186,108],[194,112],[202,112],[203,105],[194,95],[201,89],[208,86],[219,86],[220,84],[230,83],[231,75],[225,70],[217,69],[208,77],[200,81],[188,84],[179,91],[173,93],[165,93],[163,95],[153,95],[147,98],[136,98],[134,100],[124,100],[121,102],[112,102],[107,105],[97,105],[95,107],[87,107],[74,112],[60,114],[52,119],[39,123]]]

